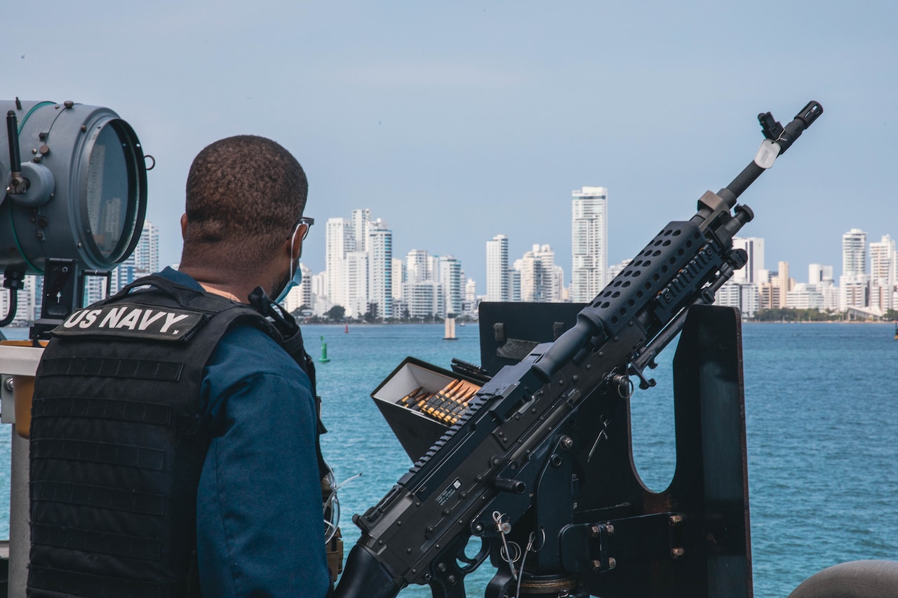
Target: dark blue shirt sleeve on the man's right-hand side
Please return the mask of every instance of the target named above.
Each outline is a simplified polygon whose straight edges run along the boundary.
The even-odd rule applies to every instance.
[[[213,438],[199,479],[205,596],[321,598],[317,417],[308,377],[260,330],[229,331],[203,382]]]

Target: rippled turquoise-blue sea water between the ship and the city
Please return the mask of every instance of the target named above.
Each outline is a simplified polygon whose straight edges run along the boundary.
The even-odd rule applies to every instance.
[[[357,540],[351,515],[364,513],[411,461],[370,394],[406,356],[450,366],[480,362],[476,324],[443,340],[439,325],[304,326],[318,364],[321,438],[337,479],[347,553]],[[10,338],[19,330],[4,329]],[[743,325],[754,595],[785,597],[824,567],[860,558],[898,560],[898,341],[892,324],[747,323]],[[634,458],[649,488],[674,473],[674,347],[659,357],[658,385],[632,400]],[[9,434],[0,435],[0,462]],[[8,471],[0,468],[0,536],[8,535]],[[482,596],[489,564],[465,580]],[[401,598],[425,598],[426,586]]]

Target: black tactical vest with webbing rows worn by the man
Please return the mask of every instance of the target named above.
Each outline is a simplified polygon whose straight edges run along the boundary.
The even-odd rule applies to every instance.
[[[200,595],[196,501],[210,442],[200,383],[238,324],[285,347],[316,396],[295,324],[286,339],[248,305],[163,277],[142,278],[54,330],[31,409],[28,596]]]

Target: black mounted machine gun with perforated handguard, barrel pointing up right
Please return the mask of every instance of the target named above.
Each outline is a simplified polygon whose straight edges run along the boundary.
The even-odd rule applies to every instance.
[[[435,598],[464,598],[464,576],[488,556],[499,569],[488,597],[514,595],[508,588],[519,582],[506,535],[518,523],[532,524],[528,512],[547,497],[556,521],[533,525],[529,536],[544,547],[533,557],[540,569],[576,579],[585,569],[614,567],[613,558],[563,548],[580,542],[569,525],[577,497],[570,455],[594,459],[604,433],[595,425],[574,434],[575,419],[607,422],[629,399],[630,376],[642,388],[654,384],[644,370],[682,329],[688,309],[713,303],[718,288],[744,266],[733,236],[753,213],[736,206],[736,198],[770,167],[770,153],[775,159],[788,149],[822,112],[812,101],[785,128],[770,113],[760,115],[762,151],[735,180],[718,193],[706,192],[689,220],[667,224],[578,314],[572,329],[484,384],[462,418],[392,490],[353,517],[362,536],[337,598],[392,598],[409,584],[430,585]],[[592,525],[588,533],[604,537],[613,526]],[[472,558],[464,552],[471,536],[482,542]],[[527,536],[518,537],[520,548]]]

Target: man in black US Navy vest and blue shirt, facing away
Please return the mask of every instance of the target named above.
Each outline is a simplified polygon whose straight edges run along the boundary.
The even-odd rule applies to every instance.
[[[269,139],[207,146],[180,269],[54,331],[32,408],[29,596],[329,593],[313,362],[276,304],[301,276],[306,194]]]

